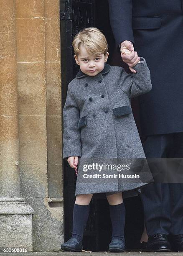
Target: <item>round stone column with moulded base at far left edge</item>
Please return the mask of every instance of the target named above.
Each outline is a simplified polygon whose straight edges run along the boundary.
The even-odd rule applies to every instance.
[[[0,4],[0,249],[33,251],[33,209],[20,198],[15,0]]]

